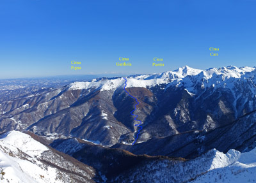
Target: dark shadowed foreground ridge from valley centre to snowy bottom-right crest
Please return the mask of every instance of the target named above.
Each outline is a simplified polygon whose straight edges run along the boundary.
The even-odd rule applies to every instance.
[[[95,167],[104,182],[250,182],[255,181],[256,149],[227,154],[211,149],[195,159],[164,156],[136,156],[78,138],[51,144],[79,161]],[[246,178],[244,178],[246,176]]]

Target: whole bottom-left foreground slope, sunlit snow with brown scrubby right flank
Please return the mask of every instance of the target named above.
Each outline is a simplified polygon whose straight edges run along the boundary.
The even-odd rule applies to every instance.
[[[68,168],[70,173],[61,168]],[[72,175],[72,170],[81,175]],[[0,136],[1,182],[94,182],[90,180],[93,170],[89,167],[87,170],[89,173],[83,172],[67,159],[20,131],[10,131]]]

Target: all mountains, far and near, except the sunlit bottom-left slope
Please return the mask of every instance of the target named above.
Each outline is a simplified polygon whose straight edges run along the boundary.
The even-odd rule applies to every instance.
[[[90,166],[95,171],[90,179],[96,182],[145,182],[141,177],[151,182],[204,182],[214,176],[219,182],[236,176],[243,180],[239,176],[255,171],[255,76],[255,67],[184,66],[125,77],[125,89],[139,102],[133,113],[142,122],[134,145],[138,121],[131,111],[136,100],[124,91],[122,77],[38,87],[16,95],[6,87],[0,132],[37,136],[51,145],[48,148]]]

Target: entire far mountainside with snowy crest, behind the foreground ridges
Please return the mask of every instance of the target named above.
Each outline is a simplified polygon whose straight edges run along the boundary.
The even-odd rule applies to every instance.
[[[255,68],[248,67],[202,71],[186,66],[156,75],[127,77],[126,89],[140,103],[134,114],[143,127],[134,146],[131,143],[137,122],[130,112],[136,101],[124,91],[124,78],[74,82],[4,101],[0,129],[28,129],[49,140],[77,137],[134,154],[194,157],[209,150],[209,144],[225,152],[226,147],[250,150],[255,147],[255,116],[251,113],[256,109],[255,73]],[[247,125],[241,127],[245,131],[241,131],[241,121]],[[234,126],[237,131],[230,135]],[[244,135],[236,143],[239,131]],[[220,135],[234,140],[218,143]],[[200,140],[201,136],[205,140]],[[164,145],[166,152],[161,152],[157,144]]]

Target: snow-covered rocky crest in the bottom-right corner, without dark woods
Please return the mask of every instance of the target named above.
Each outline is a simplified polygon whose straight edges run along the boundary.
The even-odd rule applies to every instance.
[[[241,153],[229,150],[227,154],[217,152],[209,172],[192,182],[256,182],[256,149]]]

